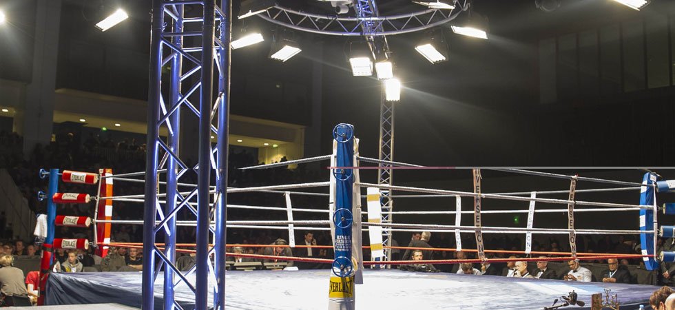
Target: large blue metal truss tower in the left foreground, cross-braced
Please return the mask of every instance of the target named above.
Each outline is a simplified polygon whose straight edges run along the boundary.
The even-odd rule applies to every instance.
[[[231,3],[219,2],[152,1],[143,216],[142,305],[146,310],[155,307],[154,283],[160,275],[163,293],[157,295],[163,295],[164,309],[183,309],[174,300],[174,286],[180,282],[194,292],[195,309],[209,308],[209,291],[214,293],[213,308],[225,309]],[[202,14],[185,17],[185,12]],[[181,115],[181,110],[188,115]],[[178,148],[181,118],[186,116],[199,119],[198,163],[194,166],[189,166]],[[215,147],[211,136],[217,136]],[[179,186],[183,191],[186,187],[178,182],[194,180],[194,176],[197,187],[180,192]],[[197,222],[197,263],[185,274],[175,264],[180,216]],[[163,248],[156,246],[158,237],[165,243]],[[214,247],[209,247],[209,240]],[[195,280],[189,280],[193,275]]]

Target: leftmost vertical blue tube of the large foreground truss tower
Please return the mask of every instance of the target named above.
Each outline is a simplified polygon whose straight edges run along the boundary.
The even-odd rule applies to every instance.
[[[152,1],[150,32],[150,72],[147,109],[147,156],[145,160],[145,209],[143,212],[143,286],[141,307],[154,310],[155,219],[157,200],[157,164],[159,109],[162,79],[162,31],[164,11],[161,0]]]

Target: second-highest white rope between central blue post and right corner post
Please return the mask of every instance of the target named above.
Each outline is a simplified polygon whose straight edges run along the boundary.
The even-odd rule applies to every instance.
[[[382,185],[382,184],[373,184],[373,183],[358,183],[361,187],[377,187],[380,189],[388,189],[393,191],[402,191],[402,192],[423,192],[430,194],[451,194],[455,196],[466,196],[466,197],[476,197],[478,194],[472,192],[459,192],[451,191],[447,189],[428,189],[421,187],[407,187],[407,186],[395,186],[395,185]],[[536,201],[538,203],[556,203],[560,205],[568,205],[569,203],[574,203],[575,205],[592,205],[596,207],[638,207],[641,209],[654,209],[652,205],[627,205],[623,203],[595,203],[591,201],[570,201],[564,199],[552,199],[552,198],[530,198],[530,197],[520,197],[520,196],[507,196],[507,195],[497,195],[497,194],[480,194],[481,198],[495,198],[495,199],[504,199],[504,200],[519,200],[519,201]]]

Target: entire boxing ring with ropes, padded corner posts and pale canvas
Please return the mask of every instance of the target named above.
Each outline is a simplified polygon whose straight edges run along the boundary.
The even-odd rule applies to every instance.
[[[340,127],[342,126],[342,127]],[[342,133],[342,134],[341,134]],[[346,133],[346,134],[344,134]],[[328,167],[331,171],[329,181],[315,183],[300,183],[286,185],[271,185],[247,188],[229,188],[229,194],[235,193],[259,193],[283,195],[286,201],[285,206],[256,206],[256,205],[227,205],[232,209],[256,209],[268,212],[280,212],[285,214],[281,220],[237,220],[228,219],[228,229],[265,229],[287,231],[288,245],[236,245],[232,246],[256,246],[256,247],[316,247],[335,249],[335,259],[321,258],[294,258],[289,256],[269,256],[258,254],[235,254],[227,253],[228,258],[252,258],[252,259],[275,259],[301,262],[316,262],[331,264],[332,269],[327,270],[300,270],[300,271],[222,271],[220,274],[214,268],[218,264],[218,256],[214,256],[214,245],[209,245],[209,273],[204,278],[207,280],[208,287],[216,287],[217,277],[225,278],[225,299],[227,300],[227,309],[337,309],[333,302],[348,304],[346,308],[341,309],[364,309],[364,307],[405,309],[408,307],[417,307],[420,309],[542,309],[549,307],[552,300],[566,296],[570,291],[576,291],[580,300],[590,300],[592,293],[602,293],[604,289],[611,289],[612,293],[617,293],[622,304],[622,309],[632,309],[638,304],[647,304],[650,293],[655,287],[650,285],[617,285],[603,282],[563,282],[559,280],[538,280],[523,278],[506,278],[497,276],[464,276],[448,273],[418,273],[388,269],[390,265],[414,265],[414,264],[457,264],[461,262],[481,263],[481,262],[509,262],[550,260],[606,260],[607,258],[641,258],[645,263],[647,270],[658,268],[656,260],[655,245],[658,236],[672,237],[675,229],[672,226],[658,226],[656,216],[659,211],[667,214],[675,212],[673,207],[664,207],[660,209],[656,205],[656,192],[669,192],[675,188],[675,183],[671,181],[657,181],[658,176],[652,172],[647,172],[643,177],[642,183],[634,183],[622,180],[607,180],[601,178],[588,178],[574,174],[553,174],[550,172],[537,172],[523,169],[510,168],[490,168],[501,172],[514,174],[523,174],[528,176],[545,178],[563,178],[570,181],[570,189],[557,191],[532,191],[532,192],[512,192],[512,193],[485,193],[482,191],[483,178],[481,169],[472,168],[472,192],[463,192],[452,189],[437,189],[424,187],[404,187],[395,185],[378,185],[361,182],[360,169],[441,169],[439,167],[420,167],[406,163],[393,163],[375,160],[373,158],[362,157],[358,154],[358,140],[353,135],[351,125],[341,124],[333,132],[335,142],[333,143],[333,154],[320,156],[317,158],[305,158],[298,161],[288,161],[284,163],[274,163],[270,165],[260,165],[247,167],[243,169],[269,169],[285,165],[295,165],[302,163],[311,163],[315,161],[330,160]],[[349,143],[351,141],[351,143]],[[360,167],[360,162],[377,163],[378,166]],[[447,169],[449,167],[443,167]],[[460,169],[453,167],[453,169]],[[165,171],[164,171],[165,172]],[[134,178],[143,176],[143,173],[132,173],[124,175],[114,175],[112,170],[105,169],[101,174],[85,174],[83,172],[63,172],[58,171],[41,172],[42,176],[50,178],[50,193],[45,194],[48,198],[48,210],[50,215],[50,238],[52,244],[45,247],[50,253],[52,248],[77,249],[85,248],[90,243],[99,249],[107,247],[136,247],[148,249],[147,242],[144,244],[134,244],[131,242],[110,242],[110,225],[148,225],[144,220],[114,220],[110,218],[112,214],[112,202],[115,200],[125,201],[127,203],[146,203],[145,194],[132,194],[125,196],[114,196],[112,194],[112,180],[116,182],[143,183],[143,179]],[[88,178],[87,178],[88,177]],[[59,193],[56,181],[85,183],[90,185],[98,184],[98,193],[90,197],[83,193]],[[55,181],[56,180],[56,181]],[[598,189],[577,189],[577,183],[605,183],[612,185],[621,185],[622,187],[598,188]],[[162,183],[162,182],[160,182]],[[166,183],[164,183],[166,184]],[[102,185],[106,185],[103,186]],[[165,214],[157,218],[154,225],[156,231],[164,231],[169,220],[174,220],[176,226],[198,227],[200,225],[195,220],[176,220],[176,214],[180,207],[189,208],[196,213],[195,207],[198,203],[190,201],[196,196],[196,185],[181,183],[178,186],[191,188],[191,191],[177,192],[183,197],[178,201],[179,207],[172,211],[172,214]],[[309,188],[328,188],[326,192],[300,192],[301,189]],[[367,189],[367,194],[362,195],[361,189]],[[104,190],[105,189],[105,190]],[[441,224],[419,224],[419,223],[382,223],[380,214],[382,206],[380,205],[380,195],[382,191],[414,193],[407,195],[409,197],[446,197],[455,198],[455,210],[448,211],[397,211],[397,218],[408,220],[405,216],[412,214],[446,214],[455,216],[455,225]],[[618,192],[634,191],[640,192],[640,203],[638,205],[625,203],[605,203],[598,201],[585,201],[575,199],[575,195],[583,192]],[[214,188],[211,188],[209,194],[216,194]],[[548,194],[567,194],[567,199],[542,198]],[[297,207],[291,203],[293,196],[324,196],[329,198],[328,206],[319,207]],[[401,195],[406,196],[406,195]],[[156,197],[160,199],[158,203],[166,203],[167,194],[159,193]],[[396,197],[393,195],[391,197]],[[470,207],[462,206],[462,197],[468,197],[472,200]],[[211,199],[211,202],[217,200]],[[484,200],[508,200],[521,202],[528,205],[527,209],[509,209],[493,210],[484,208]],[[362,202],[366,201],[362,210]],[[59,217],[56,215],[56,204],[58,203],[96,203],[101,213],[96,213],[95,218],[73,218]],[[489,204],[488,204],[489,205]],[[545,205],[547,207],[541,207]],[[563,207],[555,207],[563,205]],[[553,207],[552,207],[553,206]],[[524,206],[523,206],[524,207]],[[97,209],[97,210],[98,210]],[[211,214],[213,214],[211,209]],[[624,212],[638,211],[636,218],[638,229],[588,229],[578,227],[574,222],[574,213],[583,212],[588,214],[606,213],[606,212]],[[313,220],[293,220],[294,213],[313,214]],[[484,214],[528,214],[526,227],[495,227],[484,225],[482,216]],[[539,213],[561,213],[561,218],[565,221],[567,229],[541,228],[534,227],[534,216]],[[470,215],[473,225],[461,225],[461,218],[466,219]],[[173,218],[172,218],[173,216]],[[362,220],[362,218],[364,220]],[[209,227],[213,229],[217,225],[216,220],[211,220]],[[89,240],[68,240],[55,238],[54,225],[67,225],[72,227],[94,227],[94,242]],[[444,249],[448,251],[468,251],[477,254],[475,259],[461,260],[404,260],[391,261],[386,260],[384,250],[394,249],[382,245],[383,227],[388,227],[390,231],[432,231],[447,232],[455,234],[457,246],[453,249]],[[103,229],[103,231],[101,231]],[[659,231],[660,229],[660,231]],[[305,246],[295,244],[295,231],[331,231],[333,234],[334,245],[332,246]],[[168,232],[168,231],[167,231]],[[213,233],[214,231],[211,231]],[[368,234],[368,245],[362,245],[364,236]],[[467,249],[462,247],[461,234],[470,234],[476,238],[476,249]],[[495,252],[494,249],[484,247],[484,234],[519,234],[526,237],[524,251],[509,251],[513,254],[528,256],[526,258],[488,258],[486,253]],[[569,252],[546,252],[541,253],[532,250],[532,236],[534,234],[563,235],[568,236]],[[642,254],[594,254],[577,252],[578,235],[614,235],[614,234],[633,234],[641,238],[641,243],[645,245]],[[342,236],[342,238],[340,237]],[[379,237],[379,238],[378,238]],[[189,252],[199,254],[199,249],[194,250],[196,244],[180,245],[173,243],[170,245],[154,243],[151,255],[158,255],[163,260],[175,261],[177,252]],[[181,247],[188,247],[187,249]],[[363,249],[371,250],[371,257],[363,257]],[[405,247],[399,247],[405,249]],[[537,258],[537,255],[553,255],[550,258]],[[351,259],[350,259],[351,258]],[[43,271],[45,265],[43,258]],[[664,254],[662,260],[675,260],[674,254]],[[213,260],[213,261],[212,261]],[[199,262],[198,262],[199,264]],[[368,269],[368,267],[374,269]],[[163,267],[163,272],[160,271]],[[141,307],[142,300],[148,298],[143,291],[147,289],[144,281],[147,281],[147,274],[152,275],[152,299],[154,300],[154,309],[166,309],[166,291],[171,291],[172,308],[174,309],[192,309],[198,307],[198,296],[196,296],[196,285],[201,276],[198,276],[196,270],[198,265],[191,267],[187,271],[180,271],[174,265],[158,265],[157,269],[143,271],[143,273],[52,273],[49,277],[46,291],[42,294],[46,298],[45,304],[86,304],[98,302],[113,302],[125,304],[129,307]],[[167,271],[171,274],[167,276]],[[145,277],[142,279],[142,277]],[[167,288],[167,277],[172,279],[169,288]],[[46,276],[41,277],[46,280]],[[351,279],[346,280],[349,285],[342,288],[340,296],[333,296],[333,291],[329,294],[329,280],[333,279]],[[330,282],[335,283],[335,282]],[[41,287],[43,291],[45,287]],[[330,296],[330,298],[329,298]],[[216,296],[214,291],[208,292],[208,296],[203,300],[207,302],[208,307],[214,307]],[[342,307],[342,306],[340,306]],[[587,308],[590,309],[590,308]]]

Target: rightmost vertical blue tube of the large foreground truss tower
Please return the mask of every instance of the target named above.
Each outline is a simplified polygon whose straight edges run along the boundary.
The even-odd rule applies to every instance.
[[[220,9],[225,15],[220,19],[219,31],[220,43],[229,46],[232,37],[232,2],[222,0]],[[227,154],[229,147],[229,90],[230,90],[230,61],[231,49],[220,48],[218,50],[218,142],[216,144],[216,293],[214,294],[214,309],[225,309],[225,248],[227,244]]]

